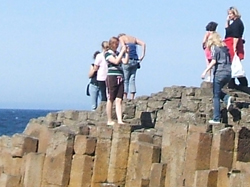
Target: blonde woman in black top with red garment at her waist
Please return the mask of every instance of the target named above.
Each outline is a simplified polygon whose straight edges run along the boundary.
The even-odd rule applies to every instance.
[[[244,59],[244,40],[242,39],[244,33],[244,24],[241,21],[241,15],[236,7],[230,7],[227,11],[227,21],[225,25],[226,35],[224,42],[226,43],[231,61],[235,54],[240,60]],[[237,77],[240,86],[248,86],[248,81],[245,76]],[[236,88],[235,79],[232,78],[228,84],[229,88]]]

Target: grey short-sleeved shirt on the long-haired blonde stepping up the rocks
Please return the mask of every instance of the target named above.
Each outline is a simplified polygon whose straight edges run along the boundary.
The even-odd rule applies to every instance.
[[[231,61],[228,48],[226,46],[211,47],[212,59],[216,60],[214,75],[231,75]]]

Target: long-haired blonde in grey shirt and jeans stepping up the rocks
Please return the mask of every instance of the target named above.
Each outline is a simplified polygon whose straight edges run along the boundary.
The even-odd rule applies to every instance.
[[[214,67],[213,78],[213,119],[209,120],[210,124],[219,124],[221,119],[220,114],[220,99],[227,106],[229,110],[232,106],[232,97],[222,91],[231,79],[231,61],[230,54],[226,44],[222,41],[217,32],[212,33],[207,42],[207,47],[211,50],[212,61],[209,66],[204,70],[201,78],[204,79],[206,73]]]

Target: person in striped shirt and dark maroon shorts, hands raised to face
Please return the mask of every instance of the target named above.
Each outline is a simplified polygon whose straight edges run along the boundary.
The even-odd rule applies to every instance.
[[[108,122],[107,125],[114,125],[112,120],[112,107],[115,101],[115,110],[117,122],[124,124],[122,121],[122,99],[124,94],[124,76],[121,65],[128,63],[127,46],[122,46],[120,53],[117,51],[119,46],[119,39],[112,37],[109,40],[109,50],[105,52],[105,59],[108,63],[108,74],[106,85],[108,90],[108,101],[106,105]]]

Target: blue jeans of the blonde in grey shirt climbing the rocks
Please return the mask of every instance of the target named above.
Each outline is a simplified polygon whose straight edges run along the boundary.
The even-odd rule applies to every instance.
[[[213,120],[220,121],[220,99],[227,104],[229,95],[225,94],[221,89],[231,79],[231,75],[215,75],[213,79],[213,95],[214,95],[214,113]]]

